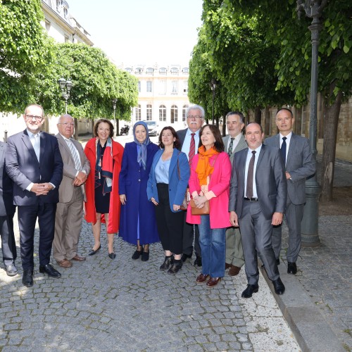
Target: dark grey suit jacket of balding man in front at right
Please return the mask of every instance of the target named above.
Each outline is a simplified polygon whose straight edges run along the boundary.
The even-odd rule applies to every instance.
[[[244,201],[244,173],[248,148],[236,153],[232,164],[229,211],[241,218]],[[256,187],[261,211],[266,219],[275,212],[284,213],[287,201],[287,181],[284,162],[277,148],[262,145],[256,168]]]

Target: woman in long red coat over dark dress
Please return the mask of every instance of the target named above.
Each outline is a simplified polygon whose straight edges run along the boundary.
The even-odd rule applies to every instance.
[[[94,246],[89,256],[99,249],[101,221],[105,221],[108,234],[108,256],[116,257],[113,249],[113,236],[118,232],[120,221],[120,198],[118,195],[118,177],[121,170],[123,146],[113,141],[113,124],[101,119],[94,126],[94,136],[87,142],[86,154],[91,170],[86,183],[87,201],[85,220],[92,222]]]

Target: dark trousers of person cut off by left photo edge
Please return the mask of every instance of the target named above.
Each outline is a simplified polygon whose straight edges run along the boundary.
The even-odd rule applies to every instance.
[[[5,265],[11,265],[17,258],[13,215],[0,216],[1,251]]]

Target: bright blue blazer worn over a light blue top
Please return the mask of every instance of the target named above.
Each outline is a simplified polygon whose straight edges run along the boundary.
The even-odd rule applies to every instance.
[[[159,203],[158,189],[156,188],[156,175],[155,168],[159,159],[161,158],[164,149],[161,149],[156,153],[153,158],[153,164],[151,165],[151,172],[149,174],[148,187],[146,194],[150,200],[152,197]],[[177,168],[177,160],[179,167]],[[179,171],[180,170],[180,175]],[[170,209],[173,213],[177,213],[173,210],[173,205],[180,206],[184,199],[184,193],[186,192],[188,181],[189,181],[189,164],[185,153],[174,149],[170,161],[169,168],[169,200]],[[177,210],[182,211],[182,210]]]

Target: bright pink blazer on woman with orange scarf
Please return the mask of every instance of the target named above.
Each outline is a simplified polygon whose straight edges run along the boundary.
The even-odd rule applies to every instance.
[[[189,178],[189,192],[201,191],[198,175],[196,174],[196,166],[199,155],[196,154],[192,160],[191,177]],[[213,158],[216,158],[214,163],[214,171],[210,176],[209,191],[213,191],[215,196],[210,199],[210,229],[221,229],[230,227],[229,214],[229,194],[230,194],[230,178],[231,178],[231,162],[230,158],[222,151],[218,157],[210,158],[210,164],[213,165]],[[191,215],[191,206],[187,208],[187,222],[190,224],[200,224],[200,215]]]

